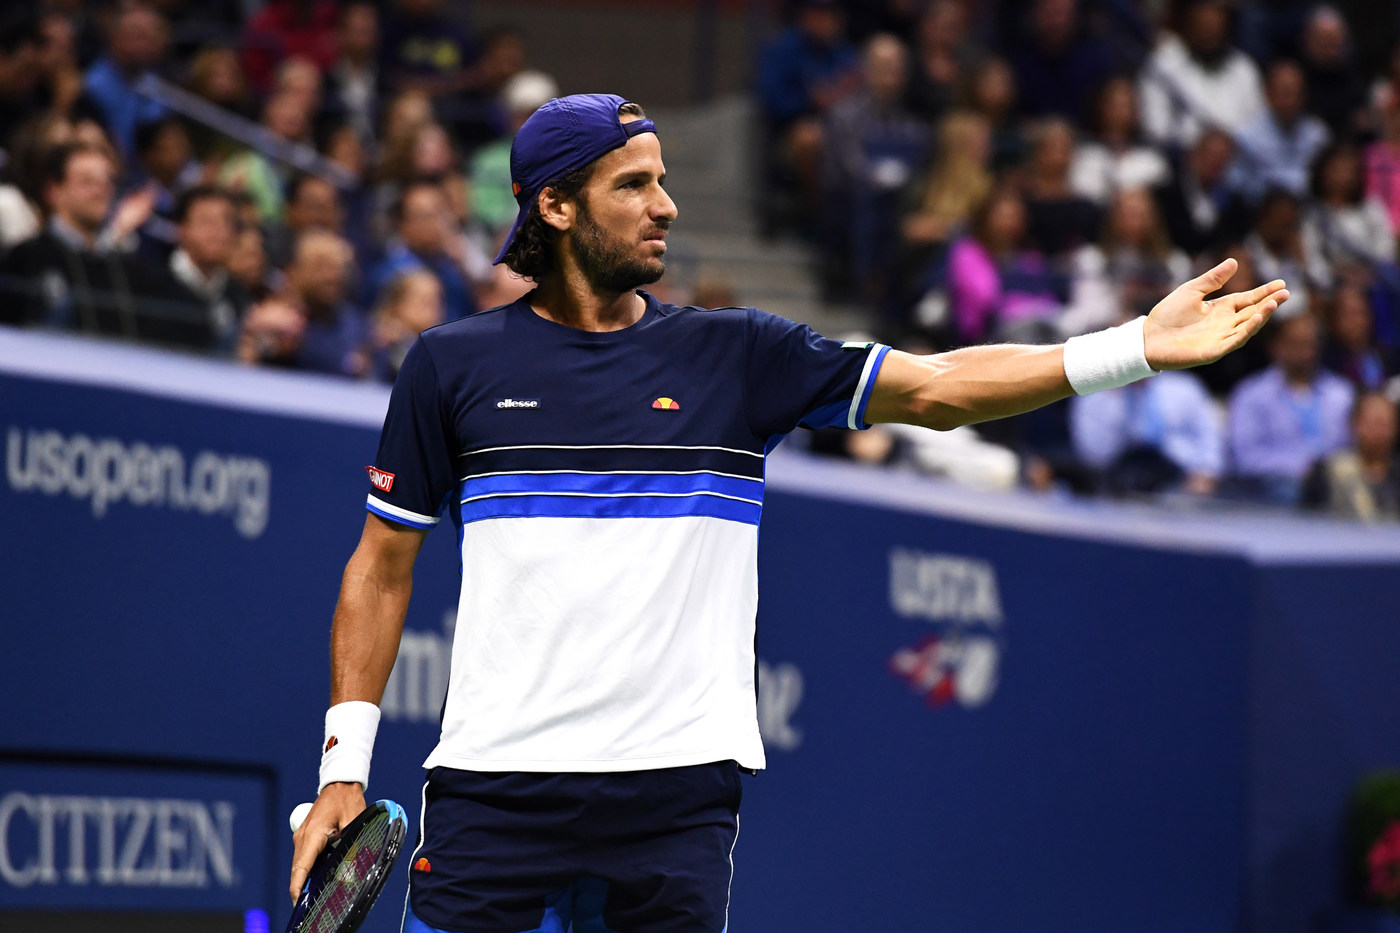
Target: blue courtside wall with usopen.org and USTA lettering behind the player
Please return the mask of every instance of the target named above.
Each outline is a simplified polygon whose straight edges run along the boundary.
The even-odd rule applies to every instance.
[[[286,920],[286,814],[315,793],[385,402],[0,329],[0,926],[60,904]],[[734,929],[1301,933],[1341,902],[1347,792],[1400,765],[1394,530],[977,495],[781,452],[764,511],[769,769],[746,782]],[[374,755],[370,796],[414,822],[455,544],[433,534],[420,558]],[[87,815],[116,804],[55,800],[147,801],[179,829],[132,877],[197,863],[207,884],[63,887],[74,864],[116,877]],[[398,929],[400,869],[370,933]]]

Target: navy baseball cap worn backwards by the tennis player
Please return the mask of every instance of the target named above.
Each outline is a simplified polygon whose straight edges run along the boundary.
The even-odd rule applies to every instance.
[[[617,108],[626,102],[616,94],[556,97],[525,120],[511,143],[511,191],[521,209],[491,265],[505,259],[531,206],[550,182],[622,148],[638,133],[657,132],[648,119],[623,123]]]

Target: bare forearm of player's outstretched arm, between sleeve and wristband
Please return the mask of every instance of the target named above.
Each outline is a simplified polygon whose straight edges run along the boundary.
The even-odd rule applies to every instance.
[[[969,346],[932,356],[890,352],[881,370],[904,370],[893,392],[875,392],[865,420],[935,430],[1019,415],[1072,395],[1058,346]],[[890,373],[895,375],[895,373]]]

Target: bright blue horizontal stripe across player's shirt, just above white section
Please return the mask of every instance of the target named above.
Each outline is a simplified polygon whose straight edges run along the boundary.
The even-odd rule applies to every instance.
[[[678,518],[703,516],[757,525],[763,506],[713,493],[498,495],[462,504],[462,524],[487,518]]]

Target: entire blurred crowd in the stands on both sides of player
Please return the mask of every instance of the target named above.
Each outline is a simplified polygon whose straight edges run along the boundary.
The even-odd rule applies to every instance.
[[[792,3],[755,63],[762,228],[809,241],[826,298],[879,339],[1061,340],[1225,255],[1232,290],[1294,293],[1200,373],[811,445],[993,486],[1400,516],[1400,48],[1358,48],[1299,3]],[[0,324],[392,381],[424,328],[529,289],[490,258],[511,137],[557,94],[521,31],[449,0],[11,4]]]

